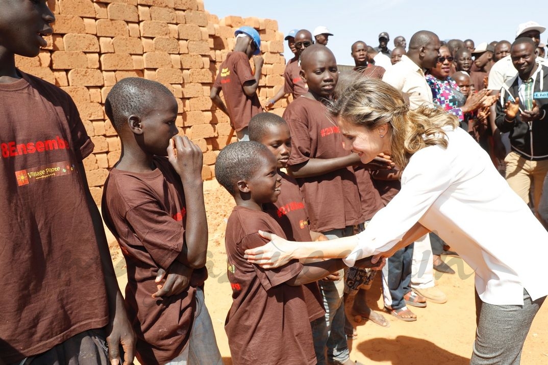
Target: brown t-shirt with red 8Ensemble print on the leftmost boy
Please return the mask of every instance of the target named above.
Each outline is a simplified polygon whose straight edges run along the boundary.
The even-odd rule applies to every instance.
[[[0,354],[6,363],[107,324],[105,278],[77,164],[93,151],[58,87],[0,83]]]

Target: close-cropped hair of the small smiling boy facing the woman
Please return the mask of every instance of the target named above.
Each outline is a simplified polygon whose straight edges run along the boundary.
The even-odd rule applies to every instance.
[[[239,141],[219,152],[215,162],[215,178],[232,196],[236,195],[238,181],[249,180],[264,164],[261,153],[270,151],[255,141]]]

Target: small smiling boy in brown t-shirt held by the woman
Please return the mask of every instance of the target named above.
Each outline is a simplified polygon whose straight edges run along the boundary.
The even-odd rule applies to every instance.
[[[221,150],[215,176],[236,201],[226,226],[228,276],[233,303],[225,322],[235,364],[316,364],[302,284],[343,268],[341,260],[277,269],[248,263],[244,251],[267,241],[259,230],[286,237],[262,204],[276,202],[281,178],[264,145],[236,142]]]

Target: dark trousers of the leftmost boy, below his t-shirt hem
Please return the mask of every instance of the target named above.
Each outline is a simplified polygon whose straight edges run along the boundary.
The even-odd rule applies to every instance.
[[[109,365],[109,350],[102,329],[90,329],[74,335],[65,342],[26,361],[12,365]]]

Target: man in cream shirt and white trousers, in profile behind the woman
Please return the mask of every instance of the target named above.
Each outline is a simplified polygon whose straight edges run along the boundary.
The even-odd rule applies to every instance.
[[[386,69],[383,81],[400,90],[409,98],[410,109],[432,104],[432,91],[426,82],[424,71],[436,67],[439,56],[439,38],[429,31],[416,32],[409,41],[407,56]],[[433,303],[445,303],[447,296],[435,287],[433,258],[428,235],[415,241],[411,287],[419,295]]]

